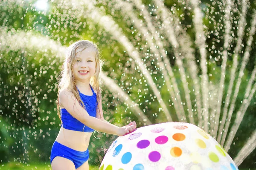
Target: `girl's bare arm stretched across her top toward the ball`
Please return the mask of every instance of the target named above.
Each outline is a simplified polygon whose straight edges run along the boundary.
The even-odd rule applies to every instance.
[[[123,136],[134,131],[135,129],[134,125],[117,127],[109,122],[101,121],[93,116],[90,116],[70,91],[60,91],[59,102],[73,117],[94,130]]]

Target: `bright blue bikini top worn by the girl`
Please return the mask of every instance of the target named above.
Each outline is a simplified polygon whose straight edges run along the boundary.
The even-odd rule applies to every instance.
[[[91,90],[93,91],[92,86],[90,85]],[[77,88],[79,91],[79,89]],[[79,96],[84,103],[84,106],[86,108],[86,111],[90,116],[96,117],[96,107],[97,107],[97,95],[93,91],[92,96],[87,96],[82,94],[79,91]],[[61,121],[62,125],[61,127],[64,127],[65,129],[69,130],[76,130],[81,132],[93,132],[94,130],[88,126],[85,126],[82,122],[74,118],[65,108],[61,109]]]

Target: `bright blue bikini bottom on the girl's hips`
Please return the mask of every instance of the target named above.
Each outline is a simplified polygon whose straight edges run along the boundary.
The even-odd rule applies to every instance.
[[[89,159],[89,151],[88,149],[84,152],[80,152],[77,150],[73,150],[63,144],[58,143],[55,141],[52,145],[51,151],[51,164],[52,160],[56,157],[60,156],[63,158],[67,158],[75,164],[76,169],[80,167],[84,162]]]

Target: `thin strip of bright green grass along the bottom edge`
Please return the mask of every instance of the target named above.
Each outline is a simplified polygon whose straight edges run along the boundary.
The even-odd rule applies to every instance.
[[[50,164],[33,163],[21,164],[18,162],[1,163],[0,170],[52,170]],[[90,170],[99,170],[98,166],[90,166]]]

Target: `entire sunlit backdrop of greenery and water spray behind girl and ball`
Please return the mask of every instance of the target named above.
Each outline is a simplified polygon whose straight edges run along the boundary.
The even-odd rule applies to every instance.
[[[189,122],[256,169],[256,1],[1,0],[0,12],[0,169],[50,169],[56,82],[81,39],[105,61],[106,120]],[[91,167],[116,137],[91,137]]]

